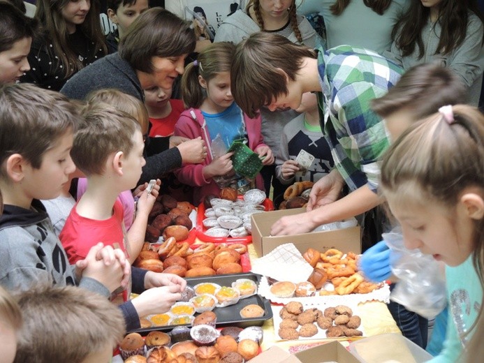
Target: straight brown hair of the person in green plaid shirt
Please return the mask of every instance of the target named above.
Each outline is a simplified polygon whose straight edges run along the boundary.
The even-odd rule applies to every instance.
[[[251,34],[237,45],[230,70],[235,103],[249,117],[255,117],[262,106],[288,92],[286,76],[276,68],[295,80],[305,57],[316,59],[316,52],[277,34]]]

